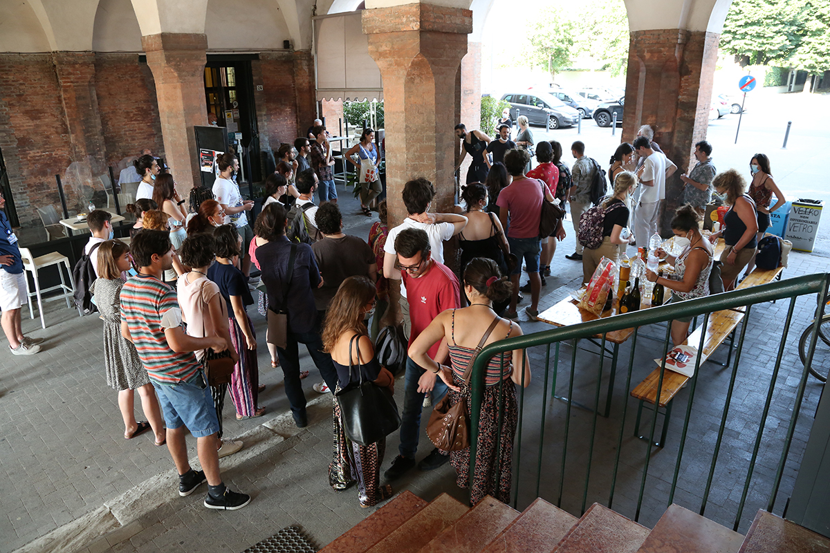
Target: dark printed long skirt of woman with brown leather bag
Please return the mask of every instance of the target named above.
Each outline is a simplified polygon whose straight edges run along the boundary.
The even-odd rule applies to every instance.
[[[464,395],[467,416],[471,416],[472,390],[453,374],[452,380],[460,391],[449,390],[452,405]],[[512,477],[513,438],[519,420],[516,404],[515,384],[510,378],[504,381],[504,411],[501,432],[499,422],[499,385],[485,386],[481,402],[481,417],[478,423],[478,445],[476,446],[476,468],[473,473],[470,502],[480,502],[486,495],[496,497],[500,502],[510,502],[510,480]],[[497,435],[498,434],[498,435]],[[498,440],[498,441],[496,441]],[[499,447],[500,444],[500,447]],[[470,480],[470,448],[450,452],[450,463],[456,469],[456,483],[467,488]],[[496,472],[500,482],[496,483]]]

